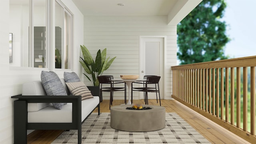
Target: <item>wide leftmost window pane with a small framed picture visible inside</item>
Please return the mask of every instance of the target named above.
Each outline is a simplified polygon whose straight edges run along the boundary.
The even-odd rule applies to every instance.
[[[12,62],[10,66],[28,67],[29,0],[9,0],[9,2],[9,33],[12,33]]]

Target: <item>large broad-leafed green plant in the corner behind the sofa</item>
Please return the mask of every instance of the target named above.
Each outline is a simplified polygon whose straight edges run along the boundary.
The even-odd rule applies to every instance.
[[[114,58],[110,57],[106,58],[107,49],[104,48],[102,52],[98,50],[95,61],[92,59],[92,55],[90,54],[89,50],[84,45],[80,45],[83,57],[80,57],[80,64],[83,66],[84,71],[87,74],[84,74],[90,82],[92,82],[93,86],[98,86],[99,90],[99,81],[98,76],[101,76],[105,70],[107,70],[112,62],[114,61]],[[88,87],[89,88],[89,87]],[[89,88],[90,89],[90,88]],[[90,89],[91,90],[91,89]],[[91,90],[92,91],[92,90]],[[99,92],[99,91],[98,91]],[[100,101],[102,102],[102,97],[100,98]]]

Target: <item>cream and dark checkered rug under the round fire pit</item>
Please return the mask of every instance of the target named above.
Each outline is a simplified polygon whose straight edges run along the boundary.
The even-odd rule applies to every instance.
[[[210,144],[178,114],[166,113],[166,127],[124,132],[110,127],[110,113],[92,113],[82,124],[82,144]],[[65,131],[52,144],[77,144],[77,130]]]

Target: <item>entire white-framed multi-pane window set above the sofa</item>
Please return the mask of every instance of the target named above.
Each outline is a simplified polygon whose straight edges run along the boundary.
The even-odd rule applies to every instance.
[[[12,33],[12,61],[10,66],[71,69],[72,14],[59,0],[55,15],[50,12],[52,0],[9,0]],[[55,36],[50,30],[55,19]],[[55,53],[52,53],[55,40]]]

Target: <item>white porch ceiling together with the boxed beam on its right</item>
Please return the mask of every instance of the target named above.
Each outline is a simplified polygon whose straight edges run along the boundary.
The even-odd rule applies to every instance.
[[[202,0],[72,0],[84,16],[167,16],[178,24]],[[118,6],[124,4],[124,6]]]

